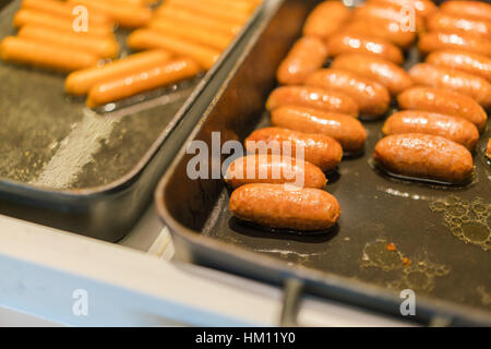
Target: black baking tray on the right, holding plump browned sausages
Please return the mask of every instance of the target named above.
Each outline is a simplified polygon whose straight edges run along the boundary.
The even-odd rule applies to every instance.
[[[178,257],[287,285],[290,296],[325,297],[417,324],[491,325],[491,166],[483,154],[489,124],[475,154],[472,183],[445,186],[378,171],[371,158],[383,120],[363,122],[369,134],[364,155],[344,159],[328,178],[326,190],[339,201],[342,217],[326,234],[248,226],[230,214],[230,192],[223,180],[187,176],[194,156],[187,154],[191,141],[211,147],[213,131],[220,132],[223,143],[243,141],[267,125],[264,104],[275,87],[276,68],[315,3],[276,2],[161,179],[157,210],[172,233]],[[408,64],[420,59],[416,50],[407,55]],[[400,314],[404,289],[416,294],[416,316]],[[288,309],[296,303],[290,296],[285,298]],[[295,318],[287,315],[284,320]]]

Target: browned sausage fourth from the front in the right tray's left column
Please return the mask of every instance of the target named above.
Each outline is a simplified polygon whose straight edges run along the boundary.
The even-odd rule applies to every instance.
[[[337,112],[286,106],[272,111],[271,123],[306,133],[325,134],[335,139],[343,152],[358,153],[367,141],[367,131],[357,119]]]

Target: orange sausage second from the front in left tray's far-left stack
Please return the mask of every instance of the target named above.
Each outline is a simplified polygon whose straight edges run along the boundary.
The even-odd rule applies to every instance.
[[[110,37],[80,35],[73,32],[31,24],[23,26],[19,31],[17,36],[39,43],[58,45],[68,49],[87,51],[99,58],[115,58],[119,53],[118,43]]]

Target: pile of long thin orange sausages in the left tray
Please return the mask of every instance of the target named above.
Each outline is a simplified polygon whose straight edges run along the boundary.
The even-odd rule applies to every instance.
[[[91,108],[190,79],[208,70],[259,0],[23,0],[1,43],[4,61],[72,72],[71,95],[87,95]],[[85,28],[77,17],[87,10]],[[79,10],[77,10],[79,9]],[[122,59],[115,26],[134,29]],[[75,28],[76,27],[76,28]],[[103,61],[104,60],[104,61]]]

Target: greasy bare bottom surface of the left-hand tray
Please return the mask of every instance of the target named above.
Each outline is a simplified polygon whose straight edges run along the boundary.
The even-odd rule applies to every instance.
[[[1,9],[0,39],[15,33],[20,3]],[[159,105],[97,115],[85,98],[64,93],[62,74],[0,61],[0,180],[63,190],[108,184],[128,173],[199,83],[163,91]]]

